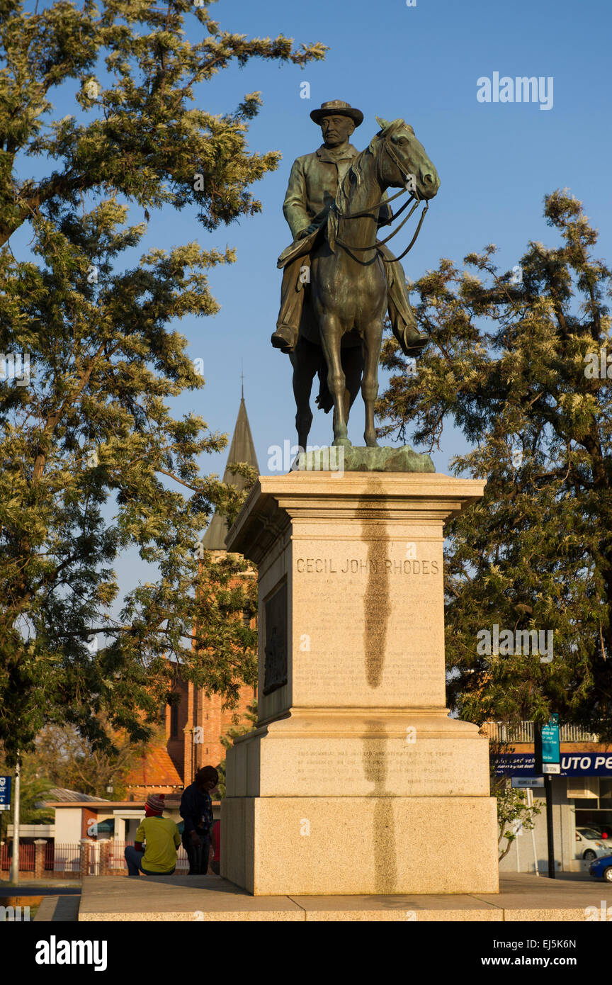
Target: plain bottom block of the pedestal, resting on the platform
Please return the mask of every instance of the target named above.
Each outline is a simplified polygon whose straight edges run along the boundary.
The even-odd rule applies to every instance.
[[[221,825],[255,895],[498,891],[490,797],[225,798]]]

